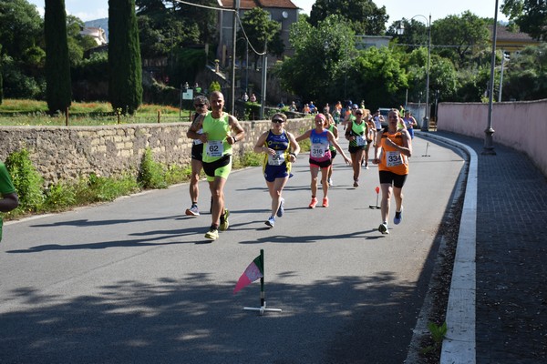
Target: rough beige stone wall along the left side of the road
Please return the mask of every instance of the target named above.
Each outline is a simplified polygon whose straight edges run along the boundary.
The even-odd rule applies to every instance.
[[[233,147],[234,155],[252,150],[269,121],[240,122],[245,129],[243,143]],[[95,173],[117,176],[137,175],[142,155],[150,147],[154,160],[166,165],[190,164],[189,123],[133,124],[116,126],[0,126],[0,159],[25,148],[46,184]],[[296,136],[313,126],[311,118],[291,119],[287,130]]]

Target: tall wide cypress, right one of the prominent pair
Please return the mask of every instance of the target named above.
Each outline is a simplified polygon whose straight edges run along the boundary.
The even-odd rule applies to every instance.
[[[124,114],[134,114],[142,103],[135,0],[108,0],[108,98]]]

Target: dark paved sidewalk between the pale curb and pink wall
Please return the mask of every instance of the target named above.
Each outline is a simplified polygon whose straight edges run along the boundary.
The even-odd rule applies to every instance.
[[[441,136],[468,146],[477,158],[476,231],[466,231],[473,228],[472,223],[469,227],[462,224],[459,233],[460,238],[462,233],[475,234],[474,264],[463,268],[469,268],[468,277],[476,275],[471,293],[475,309],[467,312],[475,320],[469,328],[474,332],[475,345],[470,350],[475,350],[476,361],[463,359],[467,353],[460,352],[453,353],[452,358],[460,358],[453,362],[546,362],[547,178],[529,157],[510,147],[495,144],[495,156],[482,155],[482,139],[446,132],[428,134],[432,139]],[[453,279],[456,275],[455,270]],[[450,296],[453,288],[454,280]],[[451,313],[462,316],[470,308],[450,307],[449,303]],[[444,351],[443,344],[443,355]]]

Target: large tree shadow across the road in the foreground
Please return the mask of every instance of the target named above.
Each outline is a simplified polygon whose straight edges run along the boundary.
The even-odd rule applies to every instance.
[[[283,272],[280,277],[297,276]],[[233,296],[233,282],[206,274],[121,280],[93,296],[67,298],[36,288],[5,292],[3,363],[370,363],[402,362],[413,285],[390,272],[332,277],[311,285],[266,283]],[[16,303],[15,303],[16,302]],[[382,359],[378,359],[382,358]]]

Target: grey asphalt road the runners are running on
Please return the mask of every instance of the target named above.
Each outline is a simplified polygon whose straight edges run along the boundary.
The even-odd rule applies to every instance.
[[[284,190],[285,216],[264,225],[260,167],[232,172],[231,227],[216,241],[210,193],[186,217],[188,185],[5,226],[0,243],[0,363],[402,363],[463,166],[414,139],[403,222],[377,232],[377,167],[352,187],[335,159],[330,207],[307,208],[307,156]],[[346,149],[346,143],[342,142]],[[321,191],[319,196],[321,196]],[[394,205],[392,205],[393,219]],[[264,250],[260,284],[232,295]]]

